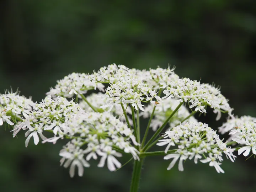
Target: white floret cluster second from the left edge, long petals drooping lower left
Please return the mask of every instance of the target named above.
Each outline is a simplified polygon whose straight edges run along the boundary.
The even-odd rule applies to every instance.
[[[48,96],[42,102],[36,103],[31,112],[23,112],[25,119],[14,127],[14,137],[21,129],[27,129],[25,134],[27,137],[26,147],[31,137],[34,138],[34,144],[37,145],[39,143],[38,134],[42,140],[46,140],[47,138],[42,134],[44,130],[52,130],[55,135],[63,133],[63,123],[73,118],[73,114],[78,113],[78,111],[79,105],[77,103],[68,101],[64,97],[52,100]]]

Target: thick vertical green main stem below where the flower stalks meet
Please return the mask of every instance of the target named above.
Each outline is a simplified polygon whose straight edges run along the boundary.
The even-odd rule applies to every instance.
[[[133,174],[132,182],[130,184],[130,192],[138,192],[139,190],[139,181],[142,171],[143,158],[140,158],[140,161],[135,160],[133,165]]]

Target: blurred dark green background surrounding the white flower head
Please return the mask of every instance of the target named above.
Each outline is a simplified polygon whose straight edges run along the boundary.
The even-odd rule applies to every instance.
[[[1,0],[0,92],[16,90],[41,101],[56,80],[116,63],[149,69],[176,65],[181,77],[215,82],[238,116],[256,116],[256,1]],[[200,120],[217,128],[208,112]],[[117,172],[85,169],[70,178],[56,145],[32,143],[0,129],[1,192],[129,191],[132,163]],[[158,148],[159,149],[159,148]],[[122,163],[129,157],[124,156]],[[224,160],[225,174],[186,161],[145,161],[141,192],[255,191],[256,160]]]

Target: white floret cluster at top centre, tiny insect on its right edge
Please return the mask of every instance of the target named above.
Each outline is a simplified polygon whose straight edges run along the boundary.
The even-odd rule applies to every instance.
[[[119,110],[121,109],[120,103],[130,103],[135,110],[144,111],[142,102],[155,103],[154,98],[157,101],[160,100],[157,92],[144,83],[143,76],[138,77],[133,73],[133,70],[123,65],[116,66],[113,64],[107,68],[101,68],[98,73],[94,74],[95,79],[110,82],[110,86],[105,90],[107,104],[101,106],[101,108],[109,108],[108,111],[111,111],[115,106]]]

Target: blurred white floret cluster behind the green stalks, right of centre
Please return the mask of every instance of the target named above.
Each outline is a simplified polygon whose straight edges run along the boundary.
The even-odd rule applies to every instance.
[[[175,108],[180,104],[179,101],[170,98],[162,100],[161,105],[156,105],[155,112],[154,112],[154,118],[151,121],[150,127],[152,127],[153,131],[156,131],[164,122],[165,120],[171,115],[171,113],[175,110]],[[148,105],[145,107],[145,111],[140,113],[140,116],[143,116],[143,118],[150,117],[152,111],[153,111],[154,105]],[[174,114],[174,116],[169,121],[169,128],[175,127],[177,124],[179,124],[183,119],[188,117],[190,115],[190,112],[187,110],[187,108],[182,105],[178,111]],[[190,122],[190,123],[196,123],[197,119],[193,116],[188,118],[184,123]]]

